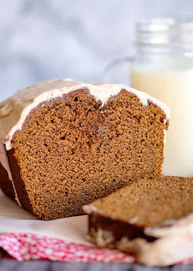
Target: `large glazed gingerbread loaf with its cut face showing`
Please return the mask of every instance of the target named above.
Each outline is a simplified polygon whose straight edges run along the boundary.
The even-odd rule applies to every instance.
[[[0,104],[0,187],[43,220],[83,214],[83,204],[160,175],[168,119],[166,104],[119,84],[20,90]]]

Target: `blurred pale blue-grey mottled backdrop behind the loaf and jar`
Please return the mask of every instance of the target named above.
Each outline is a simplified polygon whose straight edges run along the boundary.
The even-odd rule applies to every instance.
[[[0,101],[51,78],[103,80],[132,55],[134,23],[193,12],[193,0],[6,0],[0,8]]]

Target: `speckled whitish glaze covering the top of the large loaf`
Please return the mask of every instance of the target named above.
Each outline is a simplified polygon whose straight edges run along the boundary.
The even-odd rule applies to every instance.
[[[106,83],[83,83],[71,79],[52,79],[18,90],[13,96],[0,103],[0,141],[5,144],[6,149],[11,149],[11,140],[22,125],[31,110],[40,103],[62,97],[74,90],[89,90],[90,95],[102,102],[102,107],[107,100],[119,94],[124,89],[138,96],[143,106],[148,106],[148,100],[158,106],[166,115],[165,122],[169,119],[170,109],[159,100],[151,97],[145,92],[126,87],[122,84]]]

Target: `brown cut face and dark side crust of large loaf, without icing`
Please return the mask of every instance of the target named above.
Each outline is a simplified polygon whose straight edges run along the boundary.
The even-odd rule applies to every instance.
[[[160,175],[165,117],[125,90],[103,108],[87,89],[42,103],[7,151],[22,206],[43,220],[80,215],[83,204]]]

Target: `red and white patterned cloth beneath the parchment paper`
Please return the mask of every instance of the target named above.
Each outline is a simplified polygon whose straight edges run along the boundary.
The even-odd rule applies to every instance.
[[[65,262],[135,263],[133,256],[118,250],[65,243],[63,240],[32,233],[0,234],[0,258],[5,251],[19,261],[52,260]]]

